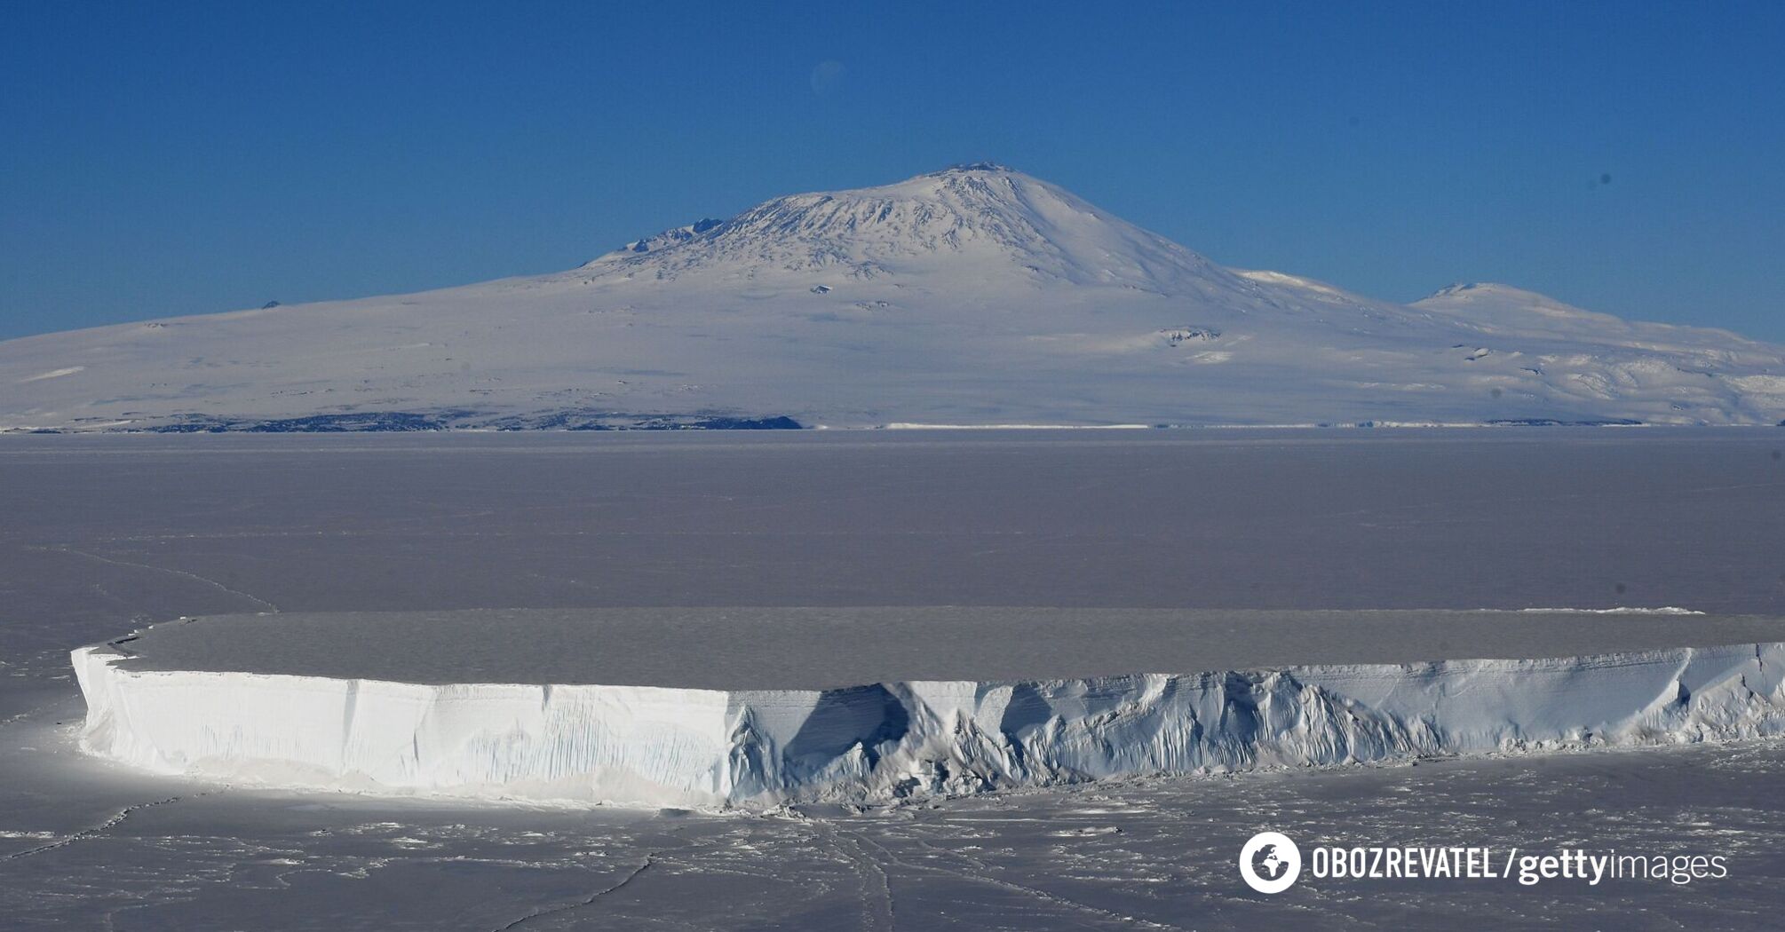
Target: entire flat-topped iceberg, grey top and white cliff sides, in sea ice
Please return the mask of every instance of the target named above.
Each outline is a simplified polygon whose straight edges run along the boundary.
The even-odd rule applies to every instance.
[[[1100,646],[1085,657],[1046,645],[1069,645],[1050,637],[1083,634],[1098,612],[809,609],[785,611],[778,632],[773,609],[707,612],[705,643],[684,637],[685,627],[660,636],[684,645],[668,657],[628,636],[677,612],[610,612],[618,618],[607,623],[591,612],[518,611],[157,625],[73,652],[87,702],[82,745],[136,768],[225,782],[764,809],[1785,730],[1785,643],[1760,639],[1778,632],[1764,618],[1706,616],[1669,630],[1681,620],[1653,612],[1128,611],[1096,628]],[[905,630],[901,616],[912,620]],[[917,677],[807,687],[851,671],[818,662],[841,652],[810,639],[826,625],[876,632],[848,646],[857,668]],[[955,641],[978,646],[934,650],[926,636],[950,643],[951,627]],[[1026,655],[987,637],[1016,639],[1026,627],[1042,645]],[[1294,636],[1319,627],[1312,639]],[[1599,648],[1476,657],[1519,643],[1542,650],[1546,627],[1569,627],[1549,645]],[[1407,637],[1382,637],[1389,630]],[[730,662],[698,664],[759,632],[768,650],[805,645],[807,655],[764,668],[746,648]],[[871,652],[907,637],[926,650]],[[1158,671],[1189,657],[1307,657],[1323,637],[1398,662]],[[578,657],[596,653],[593,677],[578,678]],[[630,661],[682,673],[628,675]],[[1098,673],[1125,661],[1153,671]],[[1085,673],[921,677],[976,662],[994,675]],[[600,682],[610,671],[618,682]]]

